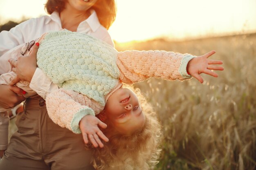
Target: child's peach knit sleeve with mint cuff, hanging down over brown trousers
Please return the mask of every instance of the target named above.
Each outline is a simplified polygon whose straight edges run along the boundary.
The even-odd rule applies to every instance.
[[[85,115],[95,115],[94,110],[88,107],[87,100],[85,95],[63,88],[49,93],[45,99],[52,121],[74,133],[81,133],[79,121]]]

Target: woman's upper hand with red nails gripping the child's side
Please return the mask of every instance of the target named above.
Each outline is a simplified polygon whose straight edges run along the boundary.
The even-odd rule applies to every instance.
[[[18,60],[9,59],[10,64],[13,66],[12,71],[17,74],[17,76],[11,81],[10,85],[14,85],[20,80],[31,82],[31,79],[36,71],[36,53],[38,50],[39,43],[35,43],[29,55],[18,56]]]

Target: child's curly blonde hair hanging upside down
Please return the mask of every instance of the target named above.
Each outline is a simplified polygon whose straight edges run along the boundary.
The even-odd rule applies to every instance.
[[[103,148],[93,149],[92,163],[97,170],[148,170],[158,163],[157,159],[161,151],[160,124],[153,108],[141,95],[139,89],[136,89],[135,93],[145,115],[145,125],[142,130],[126,136],[117,132],[108,121],[105,121],[108,128],[101,130],[109,141],[104,142]]]

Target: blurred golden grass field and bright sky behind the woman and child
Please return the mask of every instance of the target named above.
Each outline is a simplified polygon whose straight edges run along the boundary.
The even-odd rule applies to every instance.
[[[162,124],[155,170],[256,170],[256,0],[116,0],[118,51],[166,50],[223,60],[219,77],[135,84]],[[45,0],[1,0],[0,30],[47,15]],[[27,5],[29,4],[29,5]],[[11,133],[16,130],[12,120]]]

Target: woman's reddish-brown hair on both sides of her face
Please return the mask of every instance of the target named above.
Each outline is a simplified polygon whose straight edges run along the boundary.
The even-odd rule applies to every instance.
[[[47,0],[45,9],[49,14],[52,14],[54,11],[60,13],[65,8],[66,2],[67,0]],[[97,0],[90,9],[96,11],[99,22],[106,29],[109,29],[116,19],[117,9],[115,0]]]

